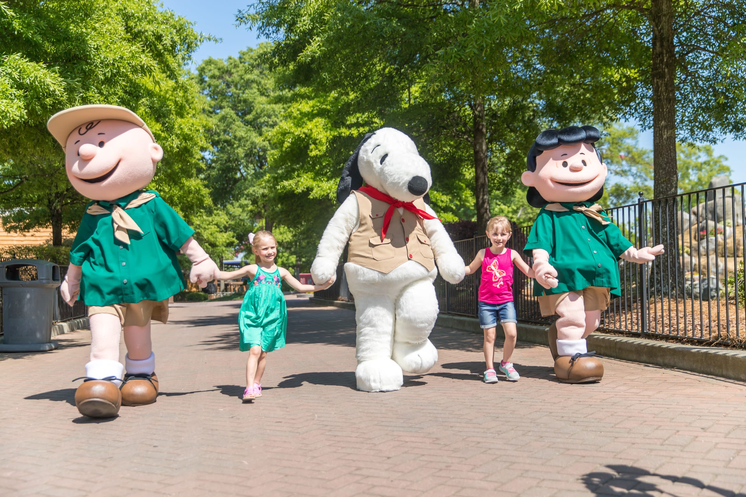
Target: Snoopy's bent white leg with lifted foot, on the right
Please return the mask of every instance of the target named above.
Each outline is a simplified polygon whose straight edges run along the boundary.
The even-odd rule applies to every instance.
[[[433,270],[426,279],[404,287],[396,299],[393,359],[407,373],[427,373],[438,360],[428,340],[438,317],[434,279]]]

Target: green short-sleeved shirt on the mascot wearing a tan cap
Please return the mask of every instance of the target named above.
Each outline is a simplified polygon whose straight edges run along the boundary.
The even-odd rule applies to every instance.
[[[134,191],[114,202],[91,202],[107,211],[122,209],[142,191]],[[194,229],[159,194],[125,212],[142,234],[128,229],[130,243],[114,236],[112,215],[86,212],[70,249],[70,263],[83,267],[80,300],[87,306],[165,300],[184,290],[186,283],[176,253],[194,234]]]

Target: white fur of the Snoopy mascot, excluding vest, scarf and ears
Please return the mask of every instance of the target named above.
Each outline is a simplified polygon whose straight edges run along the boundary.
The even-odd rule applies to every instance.
[[[381,159],[386,155],[381,163]],[[412,140],[392,128],[383,128],[360,148],[357,161],[363,180],[390,196],[411,202],[421,197],[407,189],[414,176],[433,184],[430,166],[419,156]],[[436,215],[429,206],[426,210]],[[339,256],[360,222],[357,198],[350,195],[327,224],[316,259],[311,265],[313,280],[319,284],[336,274]],[[445,228],[437,219],[424,221],[435,262],[443,278],[460,282],[465,266]],[[345,274],[355,297],[357,321],[357,389],[367,392],[399,390],[403,371],[427,373],[438,360],[428,337],[438,316],[433,281],[438,272],[419,262],[407,261],[389,273],[348,262]]]

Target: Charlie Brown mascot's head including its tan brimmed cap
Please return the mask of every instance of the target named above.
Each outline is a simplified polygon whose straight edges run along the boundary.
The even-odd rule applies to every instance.
[[[124,107],[72,107],[52,115],[47,128],[65,151],[70,183],[93,200],[116,200],[145,188],[163,158],[145,122]]]

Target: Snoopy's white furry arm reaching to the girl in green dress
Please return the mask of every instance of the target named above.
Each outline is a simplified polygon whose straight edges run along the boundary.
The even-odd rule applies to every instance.
[[[319,248],[316,250],[316,259],[311,265],[311,276],[316,285],[323,285],[330,278],[336,277],[336,265],[342,250],[360,222],[360,209],[357,207],[357,198],[354,195],[347,197],[339,209],[327,224]]]

